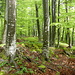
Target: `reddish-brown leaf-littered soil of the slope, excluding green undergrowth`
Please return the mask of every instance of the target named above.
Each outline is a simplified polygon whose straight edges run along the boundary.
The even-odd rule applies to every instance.
[[[54,54],[45,61],[41,55],[36,51],[30,51],[29,48],[23,47],[22,45],[17,45],[20,52],[18,52],[18,69],[22,70],[21,66],[26,67],[27,70],[31,69],[33,73],[27,73],[24,71],[22,74],[15,74],[17,70],[13,67],[12,70],[7,71],[8,65],[4,65],[0,68],[0,71],[5,72],[5,75],[75,75],[75,58],[70,58],[65,53],[63,49],[55,49]],[[25,57],[25,58],[23,58]],[[2,59],[1,59],[2,60]],[[4,60],[3,60],[4,61]],[[39,66],[44,67],[39,67]]]

